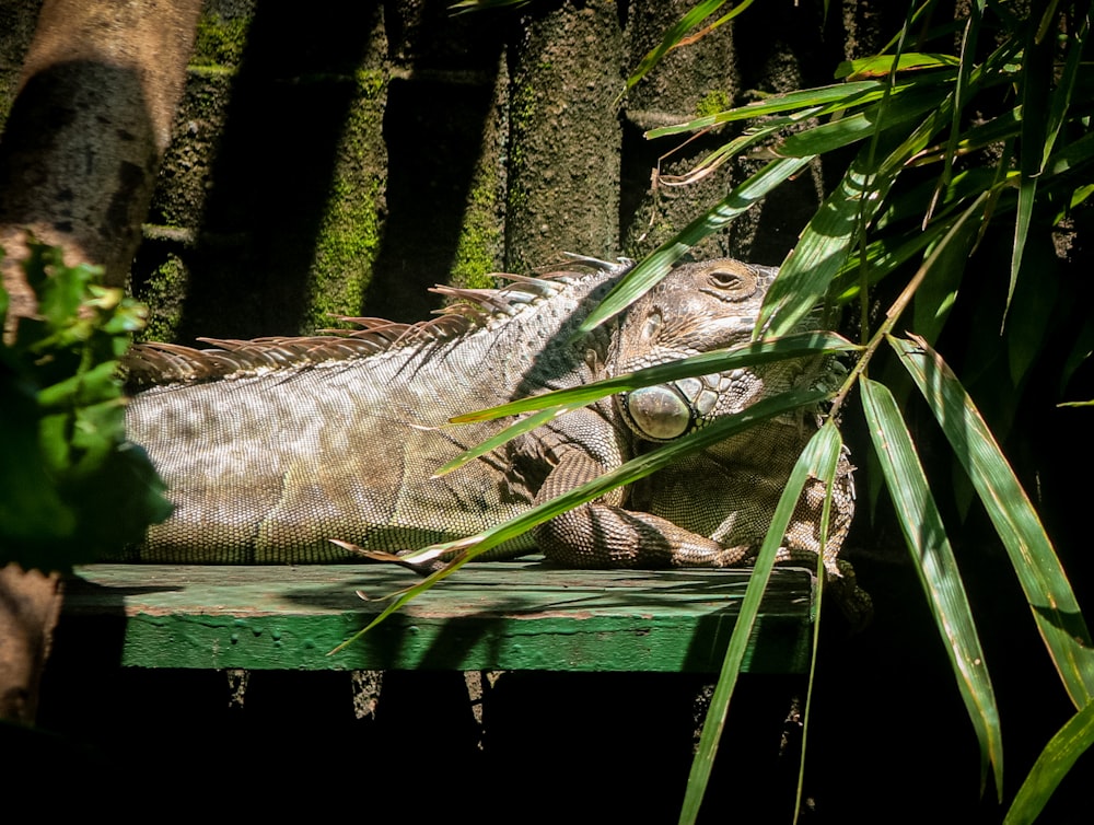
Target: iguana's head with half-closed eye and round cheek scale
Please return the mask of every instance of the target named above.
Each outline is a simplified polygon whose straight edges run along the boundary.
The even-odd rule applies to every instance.
[[[677,268],[628,311],[612,359],[614,374],[747,342],[777,274],[775,267],[732,258]],[[773,382],[772,370],[778,373]],[[796,374],[800,367],[777,364],[764,374],[741,369],[682,379],[620,394],[617,404],[637,435],[668,441],[744,409],[764,395],[765,387],[785,388],[791,372]]]

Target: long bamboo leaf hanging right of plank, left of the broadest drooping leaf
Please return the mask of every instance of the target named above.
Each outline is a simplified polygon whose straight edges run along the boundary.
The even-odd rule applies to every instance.
[[[953,548],[896,399],[888,387],[875,381],[863,379],[860,386],[870,437],[900,531],[980,743],[980,792],[991,766],[1001,800],[1003,745],[999,708]]]

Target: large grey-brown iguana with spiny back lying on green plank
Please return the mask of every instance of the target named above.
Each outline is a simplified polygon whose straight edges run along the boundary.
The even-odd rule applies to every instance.
[[[472,535],[805,380],[798,360],[605,398],[434,478],[499,429],[445,426],[454,415],[745,342],[777,274],[732,259],[686,264],[575,339],[629,268],[578,263],[508,276],[500,290],[437,288],[458,300],[420,324],[358,318],[360,329],[340,335],[135,348],[128,435],[148,451],[175,511],[133,560],[340,561],[349,551],[329,539],[397,553]],[[815,431],[810,418],[769,420],[501,550],[538,547],[571,567],[745,561]],[[822,501],[806,488],[784,555],[817,551]],[[836,574],[852,510],[845,456],[826,553]]]

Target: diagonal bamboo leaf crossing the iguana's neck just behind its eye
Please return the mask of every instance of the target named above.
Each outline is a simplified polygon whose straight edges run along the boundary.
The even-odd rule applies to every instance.
[[[724,200],[707,210],[685,226],[676,237],[662,244],[631,269],[590,313],[579,328],[587,333],[622,312],[647,290],[660,281],[688,249],[702,239],[722,229],[788,177],[810,162],[810,158],[785,158],[768,163],[764,169],[733,189]]]

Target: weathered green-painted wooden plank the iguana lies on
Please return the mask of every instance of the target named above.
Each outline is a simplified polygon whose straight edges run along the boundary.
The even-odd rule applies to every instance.
[[[747,570],[575,571],[468,565],[336,655],[414,582],[370,565],[89,565],[60,631],[106,634],[139,667],[717,672]],[[803,673],[813,576],[776,570],[744,670]]]

